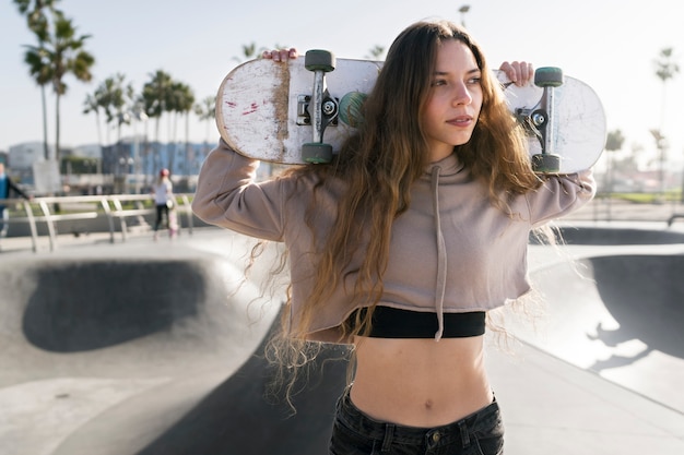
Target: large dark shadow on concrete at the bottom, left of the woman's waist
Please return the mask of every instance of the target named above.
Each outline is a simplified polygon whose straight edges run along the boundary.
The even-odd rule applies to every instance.
[[[326,346],[299,376],[293,409],[272,395],[274,372],[260,355],[213,390],[137,455],[320,455],[328,453],[335,400],[345,386],[346,350]]]

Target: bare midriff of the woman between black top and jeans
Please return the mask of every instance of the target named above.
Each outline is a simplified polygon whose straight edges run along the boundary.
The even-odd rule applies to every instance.
[[[493,400],[483,336],[406,339],[356,337],[354,405],[379,421],[432,428]]]

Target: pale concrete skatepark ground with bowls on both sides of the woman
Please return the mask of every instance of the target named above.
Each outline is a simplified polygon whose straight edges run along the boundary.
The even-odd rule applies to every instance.
[[[684,453],[684,230],[565,232],[530,247],[544,318],[502,313],[514,337],[488,340],[506,454]],[[264,398],[282,299],[263,267],[241,282],[245,238],[23,241],[0,253],[0,455],[327,453],[344,351],[323,350],[294,417]]]

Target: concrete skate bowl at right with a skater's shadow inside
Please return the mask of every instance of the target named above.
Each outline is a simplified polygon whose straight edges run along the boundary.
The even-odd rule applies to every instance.
[[[519,336],[684,412],[684,255],[618,251],[535,271],[549,320]]]

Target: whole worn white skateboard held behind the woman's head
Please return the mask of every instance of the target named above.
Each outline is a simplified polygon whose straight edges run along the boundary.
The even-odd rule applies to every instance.
[[[309,50],[275,64],[251,60],[228,73],[216,96],[222,139],[250,158],[281,164],[329,163],[363,121],[359,107],[381,61],[335,59]],[[591,167],[605,144],[605,113],[595,92],[557,68],[540,68],[534,85],[518,87],[496,72],[508,107],[528,133],[539,172]]]

